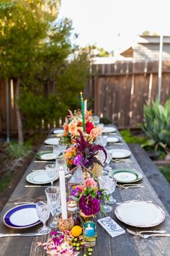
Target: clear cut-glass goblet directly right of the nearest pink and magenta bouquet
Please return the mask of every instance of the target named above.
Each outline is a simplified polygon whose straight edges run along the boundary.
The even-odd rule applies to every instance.
[[[108,194],[110,194],[110,190],[111,190],[110,187],[112,187],[112,178],[109,177],[109,176],[100,176],[99,177],[99,187],[101,189],[106,189]],[[104,201],[104,206],[103,207],[104,207],[104,212],[105,213],[109,213],[109,212],[112,211],[112,206],[107,205],[106,201]]]

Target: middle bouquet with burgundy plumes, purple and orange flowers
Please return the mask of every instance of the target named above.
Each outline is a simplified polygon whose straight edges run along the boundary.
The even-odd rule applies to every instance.
[[[64,155],[69,168],[75,166],[84,166],[88,168],[91,166],[93,168],[94,163],[98,163],[102,166],[102,163],[97,158],[99,150],[102,150],[105,155],[105,160],[107,159],[107,152],[102,147],[102,145],[95,145],[92,143],[91,139],[84,137],[80,129],[78,129],[79,137],[76,137],[76,144],[71,148],[68,148]]]

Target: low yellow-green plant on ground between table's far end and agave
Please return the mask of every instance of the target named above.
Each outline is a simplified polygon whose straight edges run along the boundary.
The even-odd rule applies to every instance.
[[[146,142],[146,137],[134,136],[130,132],[130,129],[123,129],[122,131],[120,131],[120,134],[122,135],[126,143],[138,143],[141,145]]]

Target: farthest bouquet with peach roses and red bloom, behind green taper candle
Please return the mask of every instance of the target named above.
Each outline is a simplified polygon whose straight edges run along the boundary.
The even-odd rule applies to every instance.
[[[66,122],[63,124],[63,142],[65,144],[72,143],[74,144],[75,138],[79,136],[79,130],[84,132],[83,127],[83,116],[81,111],[78,109],[73,113],[69,110],[70,115],[66,119]],[[89,137],[91,140],[96,140],[96,138],[102,134],[101,127],[95,127],[92,122],[92,112],[86,111],[84,114],[84,122],[85,122],[85,132],[86,137]]]

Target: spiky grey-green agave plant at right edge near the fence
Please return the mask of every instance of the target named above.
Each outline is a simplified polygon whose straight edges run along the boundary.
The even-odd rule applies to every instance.
[[[151,139],[143,146],[158,146],[166,153],[170,150],[170,99],[162,106],[158,101],[144,106],[144,122],[140,125],[143,132]]]

